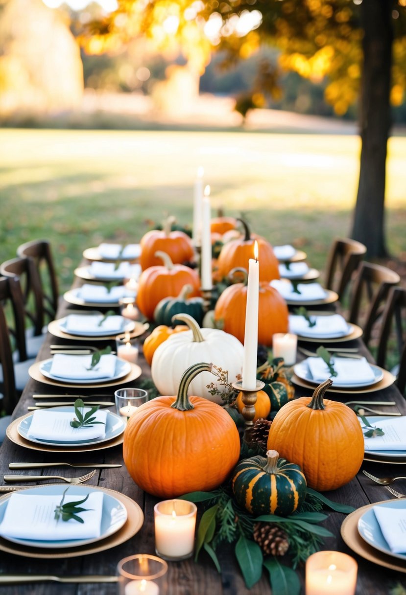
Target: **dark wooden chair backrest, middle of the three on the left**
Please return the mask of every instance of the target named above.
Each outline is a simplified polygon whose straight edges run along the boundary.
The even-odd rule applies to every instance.
[[[23,296],[25,315],[33,325],[34,334],[42,334],[45,311],[41,281],[35,262],[32,258],[12,258],[0,265],[0,274],[4,277],[14,278],[14,282],[18,283]],[[17,289],[14,290],[15,293],[17,293]]]

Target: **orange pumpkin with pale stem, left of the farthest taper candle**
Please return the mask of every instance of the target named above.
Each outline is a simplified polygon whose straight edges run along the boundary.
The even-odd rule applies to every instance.
[[[161,264],[157,251],[166,252],[172,262],[189,262],[193,259],[192,240],[183,231],[171,231],[173,217],[168,217],[163,230],[152,229],[140,240],[141,254],[139,262],[142,270]]]

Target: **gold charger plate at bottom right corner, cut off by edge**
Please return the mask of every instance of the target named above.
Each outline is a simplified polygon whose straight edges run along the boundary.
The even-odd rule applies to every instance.
[[[370,562],[373,562],[379,566],[385,566],[385,568],[391,568],[392,570],[396,570],[398,572],[406,572],[405,565],[394,563],[396,558],[392,558],[392,556],[379,552],[379,550],[376,550],[374,547],[368,545],[358,533],[358,519],[360,519],[361,515],[363,515],[364,512],[368,510],[368,508],[372,508],[372,506],[376,506],[377,504],[382,504],[385,502],[389,502],[389,500],[374,502],[373,504],[362,506],[356,511],[351,512],[351,514],[348,515],[342,522],[341,537],[347,546],[352,549],[353,552],[360,555],[361,558],[365,558],[366,560],[369,560]]]

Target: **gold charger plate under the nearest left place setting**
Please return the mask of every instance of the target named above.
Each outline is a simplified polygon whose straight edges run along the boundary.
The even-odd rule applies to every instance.
[[[60,484],[48,485],[54,486]],[[31,489],[32,487],[33,486],[31,486]],[[7,541],[0,537],[0,550],[2,550],[2,552],[15,554],[16,556],[24,556],[25,558],[76,558],[77,556],[88,556],[89,554],[109,550],[112,547],[118,546],[121,543],[124,543],[124,541],[128,541],[130,538],[134,537],[135,534],[138,533],[138,531],[142,527],[144,520],[144,515],[139,505],[136,502],[134,502],[134,500],[132,500],[129,496],[120,494],[120,492],[118,491],[109,490],[105,487],[97,486],[97,488],[100,491],[103,491],[107,494],[111,494],[112,496],[117,498],[117,500],[120,500],[120,502],[127,509],[127,521],[125,522],[123,527],[121,527],[121,529],[117,531],[117,533],[114,533],[110,537],[106,537],[101,541],[96,541],[96,543],[88,544],[87,546],[67,547],[65,549],[58,548],[58,550],[43,548],[39,550],[35,547],[23,546],[20,543],[12,543],[11,541]],[[2,496],[1,499],[6,499],[7,497],[10,497],[10,493],[4,494],[4,496]]]

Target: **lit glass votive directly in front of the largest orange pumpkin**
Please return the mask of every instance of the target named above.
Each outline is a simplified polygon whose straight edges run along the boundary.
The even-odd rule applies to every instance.
[[[154,506],[155,552],[164,560],[193,554],[197,506],[187,500],[163,500]]]

